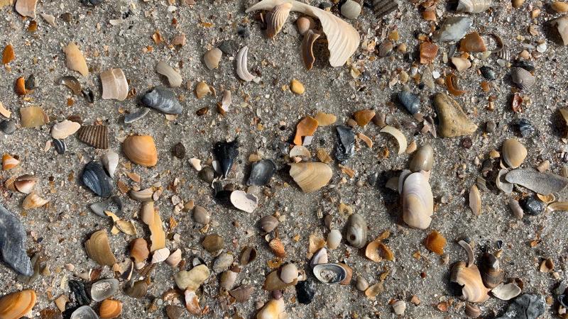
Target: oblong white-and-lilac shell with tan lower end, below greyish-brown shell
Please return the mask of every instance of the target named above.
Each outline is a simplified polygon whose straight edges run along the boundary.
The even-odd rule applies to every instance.
[[[432,222],[434,198],[424,174],[408,175],[403,186],[403,220],[412,228],[426,229]]]

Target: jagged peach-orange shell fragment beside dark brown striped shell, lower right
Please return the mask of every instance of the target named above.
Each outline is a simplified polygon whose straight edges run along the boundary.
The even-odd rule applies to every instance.
[[[457,262],[452,268],[450,281],[461,286],[461,299],[471,303],[482,303],[489,298],[488,291],[481,280],[481,274],[476,265],[466,267],[465,262]]]

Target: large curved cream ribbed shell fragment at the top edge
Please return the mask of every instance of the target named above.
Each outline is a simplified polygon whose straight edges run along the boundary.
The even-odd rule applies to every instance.
[[[349,59],[357,50],[357,47],[359,47],[359,33],[357,33],[357,30],[355,30],[353,26],[346,23],[341,18],[334,16],[333,13],[316,8],[315,6],[310,6],[309,4],[303,4],[295,0],[263,0],[251,6],[249,9],[246,9],[246,12],[272,10],[275,6],[285,3],[292,4],[290,11],[304,13],[307,16],[320,19],[323,32],[327,36],[329,64],[332,65],[332,67],[341,67],[344,65],[347,59]]]

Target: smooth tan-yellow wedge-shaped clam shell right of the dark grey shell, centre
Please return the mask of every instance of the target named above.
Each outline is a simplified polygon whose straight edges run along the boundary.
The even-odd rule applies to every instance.
[[[321,162],[290,164],[290,176],[304,193],[312,193],[327,185],[332,174],[332,168]]]

